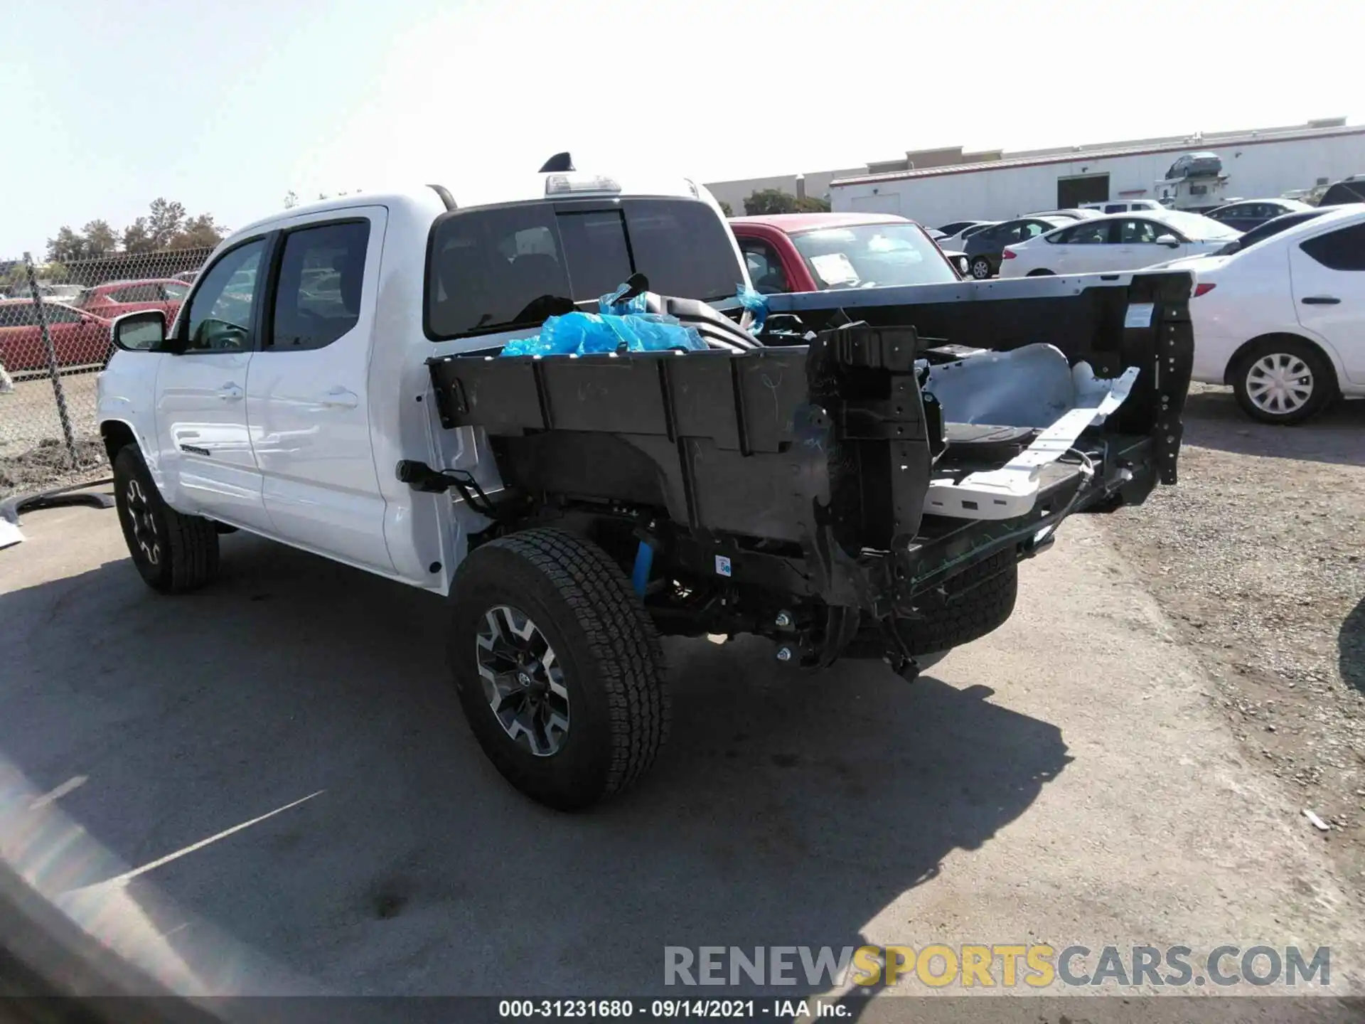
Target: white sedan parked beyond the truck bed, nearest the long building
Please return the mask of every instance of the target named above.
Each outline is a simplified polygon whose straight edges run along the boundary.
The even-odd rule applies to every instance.
[[[1141,210],[1067,224],[1001,253],[1001,277],[1140,270],[1212,253],[1242,232],[1197,213]]]

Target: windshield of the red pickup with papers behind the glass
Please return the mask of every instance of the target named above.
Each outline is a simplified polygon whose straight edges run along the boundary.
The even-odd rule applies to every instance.
[[[822,228],[792,238],[820,291],[879,284],[943,284],[957,273],[917,224]]]

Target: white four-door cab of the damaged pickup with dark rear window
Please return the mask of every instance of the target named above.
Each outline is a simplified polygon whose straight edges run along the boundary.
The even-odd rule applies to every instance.
[[[556,302],[636,272],[737,309],[748,279],[714,199],[682,179],[627,186],[566,172],[491,203],[427,187],[250,224],[164,336],[143,326],[146,348],[111,360],[105,442],[135,441],[176,509],[445,593],[464,527],[393,475],[472,455],[431,429],[427,359],[534,335]]]

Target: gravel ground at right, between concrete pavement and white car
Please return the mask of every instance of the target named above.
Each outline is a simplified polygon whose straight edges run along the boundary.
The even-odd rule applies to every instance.
[[[1104,519],[1365,898],[1365,401],[1299,427],[1193,385],[1181,479]],[[1316,826],[1302,816],[1302,827]]]

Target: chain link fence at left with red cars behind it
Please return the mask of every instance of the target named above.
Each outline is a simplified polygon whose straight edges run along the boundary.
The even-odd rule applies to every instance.
[[[210,251],[0,259],[0,500],[108,470],[94,388],[113,352],[109,321],[138,310],[173,319]]]

